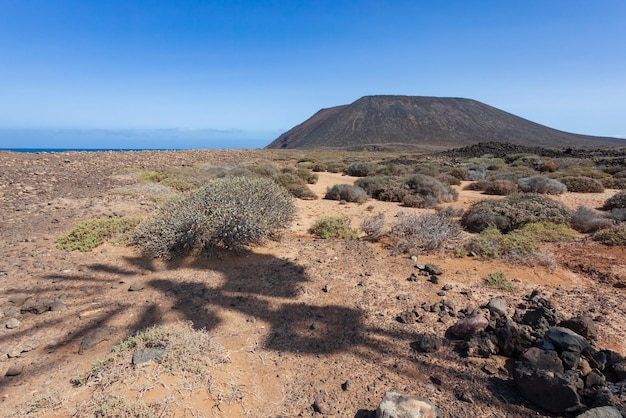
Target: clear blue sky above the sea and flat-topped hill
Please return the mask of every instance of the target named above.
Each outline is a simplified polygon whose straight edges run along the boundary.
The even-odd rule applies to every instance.
[[[371,94],[626,136],[626,1],[0,0],[0,148],[119,142],[69,145],[68,129],[261,147]]]

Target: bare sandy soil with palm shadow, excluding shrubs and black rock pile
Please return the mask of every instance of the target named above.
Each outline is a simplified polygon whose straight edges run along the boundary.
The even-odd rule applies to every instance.
[[[80,416],[93,388],[74,388],[70,379],[137,330],[179,321],[206,329],[228,361],[199,384],[155,376],[147,367],[111,391],[159,402],[162,416],[365,417],[389,390],[427,398],[445,417],[551,416],[517,396],[504,358],[460,358],[451,343],[428,355],[410,348],[419,333],[443,335],[455,320],[424,311],[424,303],[448,300],[472,310],[503,295],[515,306],[533,289],[566,315],[592,312],[601,321],[599,345],[626,354],[624,249],[591,241],[547,247],[559,261],[553,271],[420,255],[419,262],[443,269],[435,285],[407,281],[415,263],[390,256],[380,244],[318,240],[306,232],[321,216],[347,214],[358,225],[379,212],[391,222],[399,211],[421,211],[394,203],[297,201],[298,220],[280,242],[239,255],[165,262],[114,244],[90,253],[54,248],[54,238],[79,220],[150,213],[153,201],[111,192],[137,183],[136,170],[261,159],[276,155],[0,152],[0,415]],[[320,173],[311,188],[321,197],[327,187],[354,180]],[[614,192],[558,199],[572,208],[598,207]],[[453,206],[482,198],[461,191]],[[485,287],[483,278],[496,270],[509,273],[518,290]],[[129,292],[133,284],[143,289]],[[443,291],[444,285],[449,289]],[[60,304],[41,314],[20,313],[28,298]],[[421,322],[396,321],[406,309],[422,312]],[[20,325],[7,328],[11,318]],[[21,374],[5,376],[20,362]],[[495,374],[485,372],[487,363]],[[471,403],[460,400],[466,392]]]

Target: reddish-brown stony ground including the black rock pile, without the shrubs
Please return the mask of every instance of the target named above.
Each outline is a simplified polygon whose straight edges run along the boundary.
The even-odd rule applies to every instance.
[[[558,261],[552,269],[451,251],[392,256],[380,243],[306,231],[321,215],[358,224],[366,214],[425,209],[321,199],[297,201],[298,219],[280,241],[238,254],[164,261],[116,242],[85,253],[54,246],[78,221],[153,211],[161,191],[138,173],[297,158],[270,150],[0,153],[1,415],[90,416],[100,407],[106,416],[102,400],[114,394],[126,411],[142,402],[160,416],[369,417],[388,392],[392,403],[416,395],[424,402],[411,405],[432,405],[442,417],[625,412],[620,247],[546,244]],[[320,173],[311,188],[323,196],[352,181]],[[558,199],[598,207],[612,193]],[[461,190],[453,205],[480,198]],[[485,285],[494,271],[515,288]],[[173,349],[152,347],[164,351],[129,353],[117,368],[81,377],[137,331],[180,324],[212,344],[199,375],[159,368]]]

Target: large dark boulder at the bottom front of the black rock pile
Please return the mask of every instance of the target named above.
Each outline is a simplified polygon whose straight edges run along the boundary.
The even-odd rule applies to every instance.
[[[580,406],[576,388],[561,373],[536,369],[529,363],[518,361],[513,378],[526,399],[550,412],[562,414]]]

